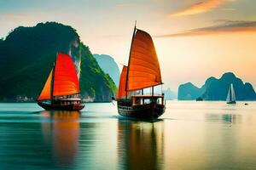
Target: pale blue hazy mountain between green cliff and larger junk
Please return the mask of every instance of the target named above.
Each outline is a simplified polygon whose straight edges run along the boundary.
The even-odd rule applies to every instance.
[[[114,59],[107,54],[93,54],[93,56],[96,58],[102,71],[106,72],[113,79],[116,86],[119,86],[120,71]]]

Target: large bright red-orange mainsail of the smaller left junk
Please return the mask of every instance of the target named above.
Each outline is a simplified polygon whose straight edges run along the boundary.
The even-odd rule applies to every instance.
[[[58,54],[53,87],[54,96],[79,94],[79,78],[73,59],[67,54]]]

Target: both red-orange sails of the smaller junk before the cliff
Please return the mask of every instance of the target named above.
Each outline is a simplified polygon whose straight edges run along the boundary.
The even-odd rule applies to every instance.
[[[53,81],[52,78],[54,78]],[[52,82],[54,82],[53,85]],[[53,96],[79,94],[79,79],[73,59],[69,55],[58,54],[55,70],[50,71],[38,100],[50,99],[51,88],[53,88]]]

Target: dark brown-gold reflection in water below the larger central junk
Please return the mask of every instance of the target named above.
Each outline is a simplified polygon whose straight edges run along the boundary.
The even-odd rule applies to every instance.
[[[163,124],[163,121],[119,120],[119,169],[161,169],[164,161]]]

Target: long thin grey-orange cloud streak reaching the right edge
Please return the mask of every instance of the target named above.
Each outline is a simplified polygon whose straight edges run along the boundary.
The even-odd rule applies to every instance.
[[[218,25],[182,31],[174,34],[158,35],[154,37],[192,37],[234,32],[256,32],[256,21],[247,20],[217,20]]]

